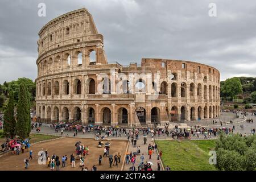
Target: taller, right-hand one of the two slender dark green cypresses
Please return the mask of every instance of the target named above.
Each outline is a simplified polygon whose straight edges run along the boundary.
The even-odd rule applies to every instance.
[[[25,139],[27,137],[27,125],[30,121],[30,115],[28,117],[28,99],[27,99],[27,89],[22,83],[19,86],[19,100],[17,104],[17,122],[16,122],[16,134],[19,135],[20,139]],[[28,121],[29,120],[29,121]]]

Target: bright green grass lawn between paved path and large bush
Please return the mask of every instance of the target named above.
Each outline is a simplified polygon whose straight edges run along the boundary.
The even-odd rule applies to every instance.
[[[162,162],[174,171],[213,171],[208,153],[215,147],[214,140],[156,140],[162,150]]]

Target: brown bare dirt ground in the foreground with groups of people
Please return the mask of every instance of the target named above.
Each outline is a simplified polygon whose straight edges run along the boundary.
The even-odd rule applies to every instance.
[[[51,157],[53,154],[59,156],[60,160],[64,155],[68,156],[68,163],[66,164],[66,167],[61,167],[61,171],[79,171],[81,168],[79,168],[80,160],[76,160],[76,167],[72,168],[70,164],[70,155],[75,154],[76,155],[76,148],[75,143],[76,141],[81,141],[84,146],[89,147],[89,155],[85,157],[84,163],[85,167],[88,167],[89,170],[92,169],[93,165],[96,165],[98,171],[117,171],[121,170],[123,158],[125,157],[125,150],[127,146],[126,140],[112,140],[110,141],[110,152],[109,154],[112,154],[113,156],[115,154],[118,154],[120,152],[121,154],[121,163],[118,164],[118,167],[112,166],[112,168],[109,167],[109,160],[108,158],[104,157],[102,159],[102,166],[98,165],[98,156],[104,154],[104,148],[98,148],[98,141],[93,139],[84,139],[84,138],[63,138],[59,140],[53,140],[50,142],[43,142],[35,144],[34,146],[31,146],[31,150],[33,151],[32,157],[33,159],[30,160],[29,168],[24,168],[24,162],[23,160],[25,158],[29,157],[29,152],[26,151],[23,154],[19,155],[13,155],[13,154],[7,154],[5,156],[0,157],[0,171],[23,171],[23,170],[31,170],[31,171],[50,171],[51,169],[47,165],[40,165],[38,164],[38,158],[37,156],[38,152],[43,150],[48,151],[48,155]],[[103,142],[105,143],[105,141]],[[56,170],[56,168],[55,168]]]

